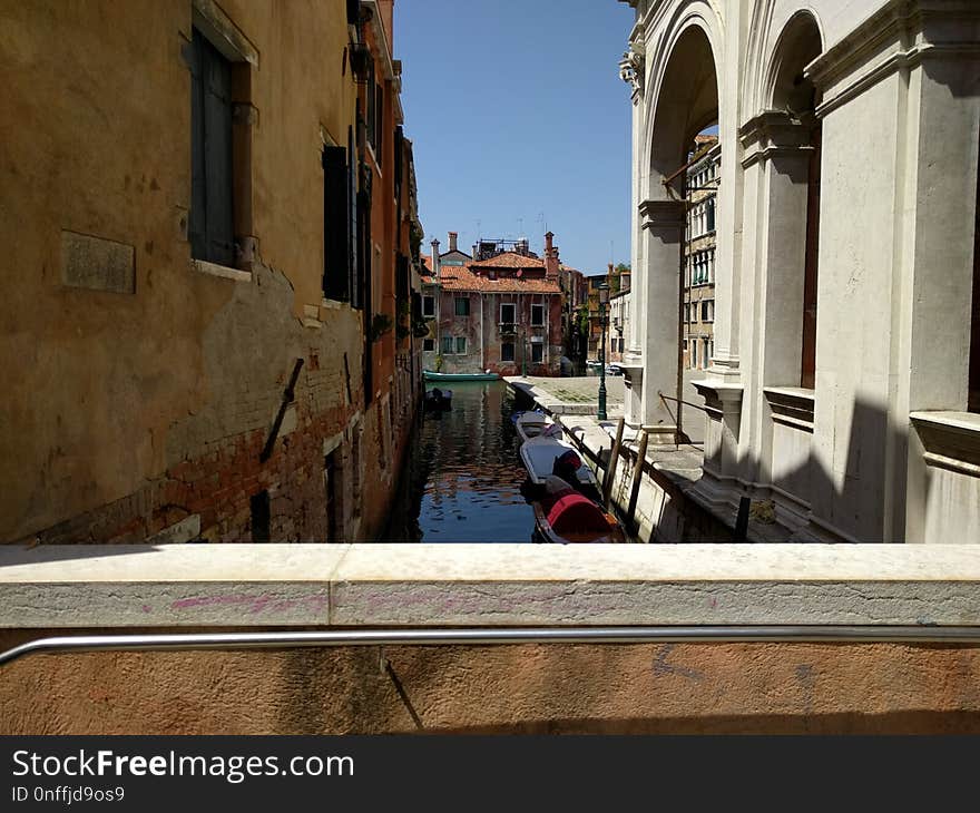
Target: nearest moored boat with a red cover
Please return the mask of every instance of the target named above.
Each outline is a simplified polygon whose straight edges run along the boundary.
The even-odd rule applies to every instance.
[[[535,510],[536,541],[559,545],[626,541],[616,517],[558,477],[546,478],[538,499],[529,501]]]

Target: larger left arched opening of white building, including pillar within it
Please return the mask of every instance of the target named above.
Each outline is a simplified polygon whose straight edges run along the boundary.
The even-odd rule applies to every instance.
[[[718,121],[714,53],[705,30],[698,25],[688,25],[677,38],[657,88],[649,140],[649,188],[640,206],[647,272],[644,423],[655,429],[663,427],[665,431],[669,427],[677,438],[683,438],[685,415],[679,401],[696,398],[693,389],[685,391],[684,369],[694,366],[695,352],[698,354],[696,366],[706,366],[705,353],[709,355],[714,344],[713,335],[702,335],[700,327],[692,324],[689,247],[695,237],[692,232],[695,199],[699,207],[697,239],[710,243],[712,251],[717,218],[714,195],[704,188],[707,182],[702,183],[700,176],[695,179],[692,170],[698,163],[705,164],[702,169],[708,169],[704,161],[706,146],[717,147],[715,156],[721,151],[716,135],[712,136],[712,145],[698,138],[715,134]],[[717,179],[710,174],[710,184],[716,186]],[[696,184],[702,188],[695,193]],[[706,276],[704,278],[706,283]],[[698,276],[698,284],[700,280]],[[710,325],[714,302],[702,304],[702,296],[706,295],[702,292],[698,297],[697,324]],[[709,319],[702,321],[702,313],[707,315],[708,310]],[[693,414],[688,420],[694,425]]]

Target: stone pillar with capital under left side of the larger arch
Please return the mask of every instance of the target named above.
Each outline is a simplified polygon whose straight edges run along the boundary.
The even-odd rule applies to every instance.
[[[643,222],[644,297],[646,310],[637,314],[643,330],[643,429],[653,443],[674,443],[677,424],[659,393],[677,398],[678,343],[680,320],[680,248],[684,237],[683,200],[644,200]]]

